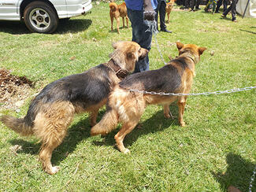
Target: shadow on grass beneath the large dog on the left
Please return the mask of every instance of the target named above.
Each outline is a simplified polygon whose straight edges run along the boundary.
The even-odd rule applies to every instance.
[[[54,165],[58,165],[61,161],[63,161],[66,157],[68,157],[69,153],[72,153],[79,142],[83,139],[90,137],[91,127],[89,126],[88,118],[84,120],[80,120],[78,123],[73,124],[68,129],[68,134],[64,138],[64,141],[58,146],[52,156],[52,163]],[[28,153],[32,155],[38,155],[41,143],[40,142],[28,142],[23,139],[13,139],[10,141],[12,145],[22,146],[23,150],[18,150],[17,153]]]

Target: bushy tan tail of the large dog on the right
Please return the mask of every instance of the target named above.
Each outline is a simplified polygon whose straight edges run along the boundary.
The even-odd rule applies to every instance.
[[[102,120],[100,120],[98,124],[91,128],[91,135],[106,135],[117,127],[117,123],[117,112],[113,109],[110,109],[103,116]]]

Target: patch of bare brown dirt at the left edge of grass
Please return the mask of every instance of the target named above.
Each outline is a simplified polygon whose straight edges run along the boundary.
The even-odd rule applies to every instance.
[[[26,76],[13,76],[0,68],[0,109],[17,109],[24,104],[34,83]]]

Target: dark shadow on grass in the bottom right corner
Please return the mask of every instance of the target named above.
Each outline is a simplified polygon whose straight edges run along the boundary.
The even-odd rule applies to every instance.
[[[227,191],[228,186],[236,186],[241,191],[247,191],[255,164],[234,153],[228,153],[226,161],[228,164],[226,172],[212,173],[217,182],[221,184],[221,189]],[[255,181],[252,184],[251,190],[256,191]]]

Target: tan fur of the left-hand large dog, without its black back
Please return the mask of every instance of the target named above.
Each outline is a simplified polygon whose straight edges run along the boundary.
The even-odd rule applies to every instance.
[[[115,50],[110,54],[111,60],[115,61],[116,65],[125,69],[128,72],[134,71],[135,62],[139,57],[146,57],[148,50],[143,49],[136,42],[116,42],[113,43]],[[109,68],[109,63],[103,64]],[[113,89],[121,80],[117,78],[116,72],[109,68],[109,74],[101,74],[100,71],[93,68],[87,76],[97,76],[99,80],[101,76],[109,77],[109,89]],[[77,102],[58,101],[58,102],[42,102],[42,99],[37,102],[37,111],[33,126],[29,127],[25,124],[25,120],[17,119],[13,116],[2,116],[0,120],[6,126],[13,129],[20,135],[35,135],[42,142],[39,152],[39,160],[43,164],[43,170],[50,175],[58,172],[58,167],[53,167],[50,159],[56,147],[58,147],[67,133],[69,124],[75,113],[89,112],[90,124],[94,126],[98,116],[98,109],[106,104],[106,98],[95,105],[90,105],[86,109],[81,106],[80,100]],[[83,98],[81,98],[83,99]],[[89,101],[83,101],[89,102]],[[27,114],[27,116],[29,116]]]

